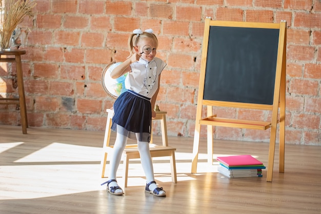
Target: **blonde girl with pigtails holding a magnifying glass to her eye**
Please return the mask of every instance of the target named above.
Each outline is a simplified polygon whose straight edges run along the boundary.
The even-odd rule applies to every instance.
[[[113,155],[110,160],[110,175],[107,191],[122,195],[124,191],[117,185],[116,171],[121,162],[127,138],[137,140],[141,163],[146,175],[145,191],[154,196],[164,197],[166,192],[154,181],[152,159],[149,152],[151,120],[155,118],[154,105],[159,90],[160,73],[166,63],[155,57],[158,40],[152,29],[133,31],[129,37],[130,56],[113,69],[110,76],[116,79],[128,73],[125,80],[126,92],[119,95],[114,103],[111,129],[117,132]],[[104,184],[105,184],[104,183]]]

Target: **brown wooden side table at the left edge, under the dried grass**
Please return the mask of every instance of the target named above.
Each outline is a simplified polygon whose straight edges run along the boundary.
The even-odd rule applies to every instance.
[[[27,133],[28,120],[27,120],[27,109],[26,109],[26,99],[25,99],[25,88],[24,79],[21,65],[21,55],[26,54],[25,50],[0,50],[0,62],[15,63],[17,70],[17,84],[18,84],[18,94],[19,98],[0,98],[0,104],[19,104],[22,132]],[[3,57],[5,56],[5,57]],[[14,57],[8,57],[14,56]]]

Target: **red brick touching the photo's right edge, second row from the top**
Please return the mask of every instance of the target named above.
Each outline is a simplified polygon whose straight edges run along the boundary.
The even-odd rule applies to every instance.
[[[321,13],[294,13],[294,26],[321,28]]]

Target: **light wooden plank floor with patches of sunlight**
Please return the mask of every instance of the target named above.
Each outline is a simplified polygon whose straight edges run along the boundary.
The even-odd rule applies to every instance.
[[[207,164],[205,139],[191,174],[193,139],[169,137],[177,148],[177,184],[169,161],[153,160],[167,197],[144,192],[139,160],[130,162],[128,187],[119,197],[100,185],[106,181],[99,177],[103,139],[104,132],[28,128],[22,134],[19,126],[0,125],[0,213],[321,213],[321,147],[286,144],[285,173],[278,172],[276,150],[273,181],[266,182],[266,170],[263,178],[219,174],[215,161]],[[251,154],[266,165],[268,144],[215,141],[214,158],[228,154]]]

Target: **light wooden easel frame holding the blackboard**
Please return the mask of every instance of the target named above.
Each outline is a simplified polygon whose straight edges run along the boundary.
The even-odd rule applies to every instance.
[[[272,105],[203,100],[210,26],[279,29],[278,49],[277,49],[277,59],[276,59],[276,74],[275,74],[274,95],[273,95]],[[286,30],[287,30],[286,22],[280,22],[280,24],[225,22],[225,21],[212,21],[211,18],[206,18],[205,28],[204,28],[203,48],[202,48],[202,61],[200,66],[198,98],[197,98],[195,133],[194,133],[194,143],[193,143],[193,159],[192,159],[192,170],[191,170],[192,173],[196,173],[196,170],[197,170],[200,125],[207,125],[208,163],[211,165],[213,165],[213,126],[249,128],[249,129],[259,129],[259,130],[266,130],[268,128],[271,128],[268,166],[267,166],[267,181],[272,182],[276,129],[277,129],[277,123],[278,123],[278,120],[277,120],[278,110],[280,110],[279,111],[279,172],[284,172],[286,40],[287,40]],[[207,106],[207,118],[205,119],[202,119],[203,106]],[[213,115],[212,106],[270,110],[272,111],[272,117],[271,117],[271,121],[269,122],[217,118],[216,115]]]

